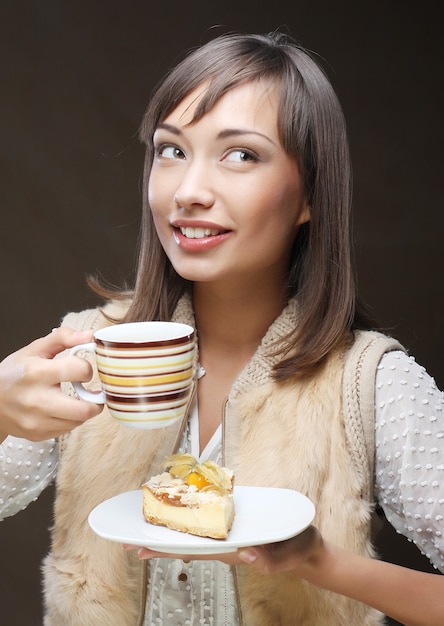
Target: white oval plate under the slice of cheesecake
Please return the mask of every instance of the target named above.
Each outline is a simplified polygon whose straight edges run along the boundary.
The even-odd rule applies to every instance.
[[[235,486],[234,505],[234,523],[227,539],[207,539],[149,524],[142,513],[141,490],[105,500],[91,511],[88,521],[100,537],[119,543],[170,554],[221,554],[298,535],[315,514],[306,496],[275,487]]]

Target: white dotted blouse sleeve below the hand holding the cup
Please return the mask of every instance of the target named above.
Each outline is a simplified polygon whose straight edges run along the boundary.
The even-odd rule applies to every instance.
[[[32,442],[7,437],[0,445],[0,520],[38,498],[53,480],[58,459],[55,439]]]

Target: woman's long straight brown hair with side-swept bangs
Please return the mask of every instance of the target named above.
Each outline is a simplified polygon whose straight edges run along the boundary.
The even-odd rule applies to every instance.
[[[140,129],[146,145],[143,217],[137,277],[125,319],[170,319],[180,296],[191,288],[163,251],[148,205],[157,125],[204,81],[208,87],[193,121],[230,89],[259,79],[279,85],[280,138],[299,164],[311,216],[299,229],[288,274],[299,320],[275,367],[276,379],[284,380],[313,372],[351,330],[369,327],[370,321],[357,303],[352,268],[351,166],[342,108],[313,55],[283,33],[221,35],[192,50],[155,89]]]

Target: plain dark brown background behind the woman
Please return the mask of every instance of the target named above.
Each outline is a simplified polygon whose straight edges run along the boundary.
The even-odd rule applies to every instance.
[[[213,31],[284,26],[324,59],[348,119],[361,291],[443,386],[437,4],[2,0],[0,356],[49,332],[65,312],[94,305],[86,274],[131,280],[137,131],[164,71]],[[49,489],[0,525],[5,626],[42,623],[51,502]],[[411,544],[384,533],[388,558],[427,567]]]

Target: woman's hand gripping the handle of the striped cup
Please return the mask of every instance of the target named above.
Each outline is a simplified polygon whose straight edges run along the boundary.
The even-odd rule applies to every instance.
[[[60,383],[87,382],[91,365],[76,356],[54,357],[92,340],[90,331],[58,328],[0,363],[0,442],[7,436],[43,441],[98,415],[102,405],[71,398]]]

